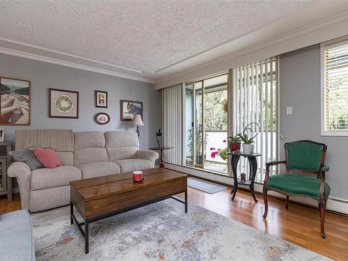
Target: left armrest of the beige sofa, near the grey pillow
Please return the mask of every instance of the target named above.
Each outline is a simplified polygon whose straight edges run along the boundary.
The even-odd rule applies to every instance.
[[[17,177],[22,209],[29,209],[31,177],[31,170],[29,166],[24,162],[15,161],[8,167],[7,175],[9,177]]]

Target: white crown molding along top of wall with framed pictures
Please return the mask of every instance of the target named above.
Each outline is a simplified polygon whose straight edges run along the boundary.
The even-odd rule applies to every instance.
[[[35,61],[42,61],[45,63],[53,63],[56,65],[63,65],[66,67],[70,67],[70,68],[76,68],[79,70],[86,70],[88,72],[97,72],[100,74],[106,74],[106,75],[111,75],[114,77],[120,77],[120,78],[125,78],[125,79],[131,79],[131,80],[135,80],[135,81],[143,81],[149,84],[155,84],[155,81],[152,79],[148,79],[148,78],[144,78],[144,77],[137,77],[134,75],[130,75],[130,74],[124,74],[124,73],[120,73],[120,72],[114,72],[111,70],[105,70],[102,68],[96,68],[93,66],[88,66],[88,65],[82,65],[80,63],[72,63],[69,61],[63,61],[61,59],[57,59],[57,58],[51,58],[51,57],[47,57],[47,56],[42,56],[39,54],[32,54],[29,52],[22,52],[22,51],[18,51],[15,49],[10,49],[10,48],[5,48],[5,47],[0,47],[0,54],[8,54],[8,55],[12,55],[12,56],[18,56],[18,57],[22,57],[22,58],[27,58],[27,59],[31,59],[31,60],[35,60]]]

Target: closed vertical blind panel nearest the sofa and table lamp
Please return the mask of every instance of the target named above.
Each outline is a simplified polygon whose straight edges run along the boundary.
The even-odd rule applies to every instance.
[[[164,152],[171,164],[182,164],[182,84],[162,89],[163,143],[173,147]]]

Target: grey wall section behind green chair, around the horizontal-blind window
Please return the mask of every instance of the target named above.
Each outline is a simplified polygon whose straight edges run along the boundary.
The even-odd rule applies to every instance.
[[[284,143],[310,139],[328,145],[326,175],[331,185],[331,197],[348,200],[348,137],[320,134],[320,47],[314,45],[280,56],[280,82],[283,97],[283,137],[280,141],[280,159]],[[285,108],[292,106],[292,115]]]

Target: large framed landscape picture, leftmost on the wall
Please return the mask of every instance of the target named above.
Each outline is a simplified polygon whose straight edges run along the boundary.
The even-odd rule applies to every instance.
[[[0,77],[0,125],[30,125],[30,81]]]

